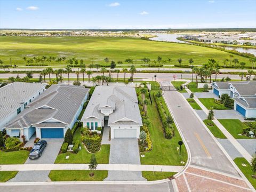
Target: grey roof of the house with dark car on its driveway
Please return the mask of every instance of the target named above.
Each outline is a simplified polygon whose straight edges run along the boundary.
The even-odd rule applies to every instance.
[[[7,125],[6,129],[30,127],[31,125],[65,127],[73,121],[88,91],[89,89],[82,86],[52,85],[31,102],[28,108]]]

